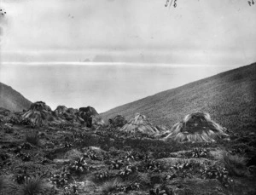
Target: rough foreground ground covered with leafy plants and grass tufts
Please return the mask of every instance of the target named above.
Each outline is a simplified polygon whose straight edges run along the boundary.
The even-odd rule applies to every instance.
[[[254,133],[177,143],[101,128],[0,123],[0,194],[255,194]]]

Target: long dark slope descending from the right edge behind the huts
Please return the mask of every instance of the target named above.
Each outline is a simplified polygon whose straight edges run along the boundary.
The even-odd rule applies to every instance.
[[[191,112],[209,112],[228,129],[256,127],[256,63],[169,89],[102,113],[131,118],[140,112],[154,124],[172,126]]]

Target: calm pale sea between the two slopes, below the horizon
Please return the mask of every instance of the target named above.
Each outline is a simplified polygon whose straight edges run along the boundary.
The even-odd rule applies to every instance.
[[[105,112],[148,95],[173,89],[238,66],[131,63],[2,62],[0,82],[28,100],[56,106],[93,106]]]

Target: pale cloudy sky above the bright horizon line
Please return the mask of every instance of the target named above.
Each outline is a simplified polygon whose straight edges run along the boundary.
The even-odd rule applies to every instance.
[[[247,0],[0,0],[4,61],[247,64],[256,5]],[[185,57],[185,59],[184,59]]]

